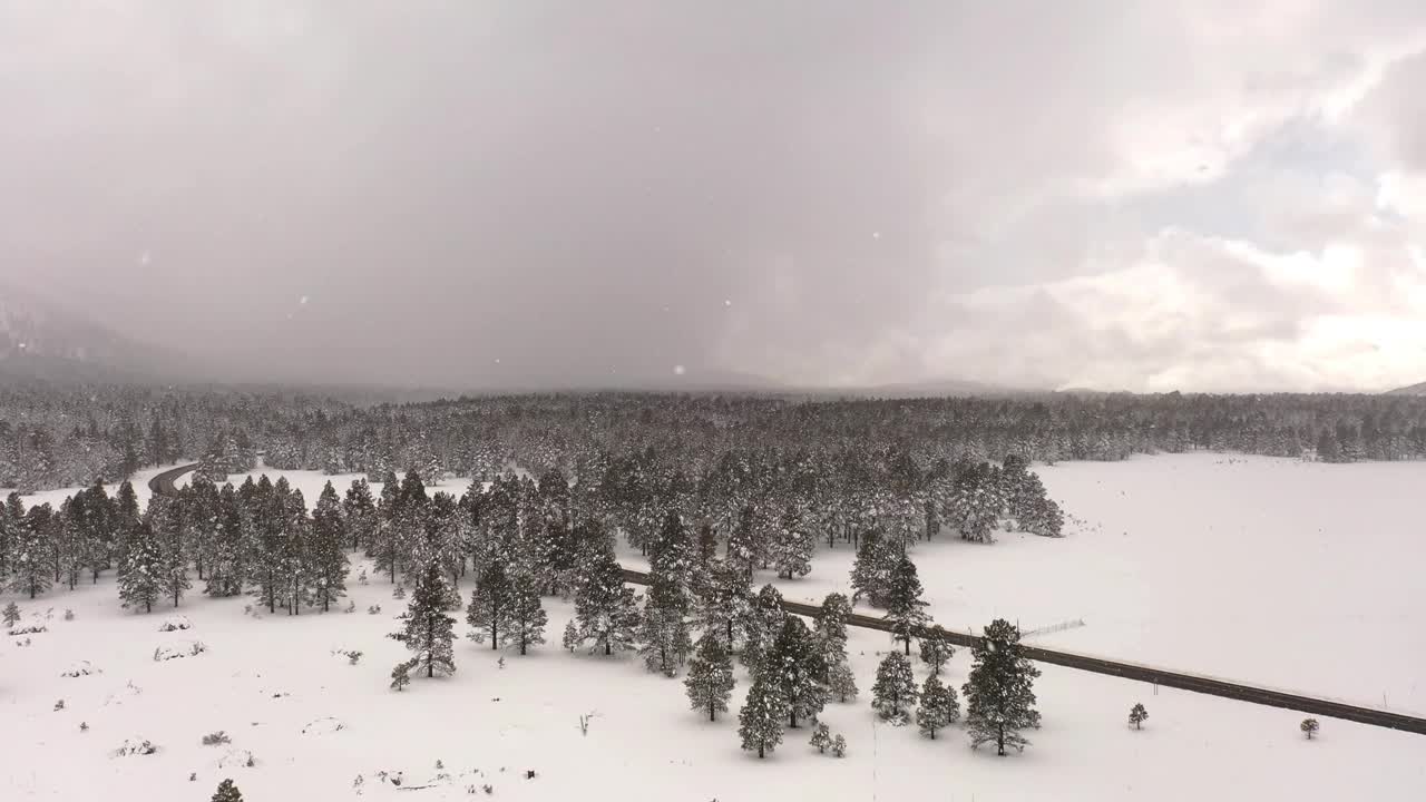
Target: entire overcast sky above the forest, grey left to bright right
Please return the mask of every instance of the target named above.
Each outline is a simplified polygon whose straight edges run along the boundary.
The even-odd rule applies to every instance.
[[[235,380],[1426,380],[1420,0],[0,0],[0,281]]]

